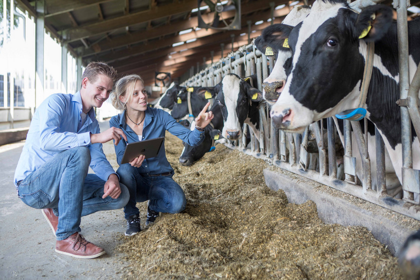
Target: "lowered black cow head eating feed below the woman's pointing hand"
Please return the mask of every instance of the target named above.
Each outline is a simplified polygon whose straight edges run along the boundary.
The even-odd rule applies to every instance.
[[[194,128],[195,121],[191,123],[191,130]],[[179,156],[179,163],[184,166],[190,166],[192,163],[200,159],[206,152],[214,149],[214,140],[221,138],[221,132],[218,129],[212,128],[210,125],[207,125],[204,128],[204,136],[204,140],[197,146],[190,146],[186,142],[182,142],[184,147],[181,155]]]

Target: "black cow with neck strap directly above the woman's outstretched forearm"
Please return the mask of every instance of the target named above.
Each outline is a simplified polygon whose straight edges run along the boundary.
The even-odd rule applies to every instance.
[[[191,86],[180,89],[175,97],[172,111],[170,112],[174,119],[181,119],[185,115],[190,114],[188,109],[188,91],[190,92],[192,116],[195,117],[199,114],[199,112],[208,102],[208,99],[206,99],[205,96],[201,94],[205,90],[200,88],[201,87],[199,86]]]

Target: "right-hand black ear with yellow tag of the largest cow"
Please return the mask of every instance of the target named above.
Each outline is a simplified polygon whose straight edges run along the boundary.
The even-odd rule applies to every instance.
[[[372,5],[364,8],[354,25],[354,36],[367,42],[377,41],[388,31],[392,23],[392,8]]]

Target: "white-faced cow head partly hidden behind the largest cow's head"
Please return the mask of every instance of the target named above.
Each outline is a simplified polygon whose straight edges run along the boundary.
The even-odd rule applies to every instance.
[[[283,20],[283,24],[295,26],[301,22],[310,12],[310,6],[294,6]],[[290,73],[291,66],[291,50],[287,43],[284,43],[283,37],[279,39],[275,34],[280,24],[273,24],[266,27],[260,36],[258,36],[254,44],[262,53],[266,47],[270,47],[277,53],[274,67],[269,76],[262,82],[262,97],[268,104],[273,105],[284,88],[287,75]]]

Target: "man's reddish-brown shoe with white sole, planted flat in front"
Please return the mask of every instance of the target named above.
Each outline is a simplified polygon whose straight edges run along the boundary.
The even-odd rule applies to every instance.
[[[55,242],[55,251],[77,258],[94,258],[105,253],[105,250],[84,239],[78,232],[71,234],[64,240]]]

